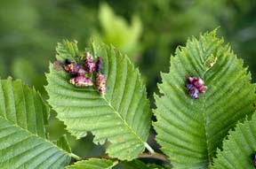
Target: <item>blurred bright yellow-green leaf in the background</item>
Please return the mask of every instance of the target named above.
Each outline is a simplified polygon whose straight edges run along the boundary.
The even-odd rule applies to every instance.
[[[100,4],[100,26],[103,30],[101,39],[113,44],[118,50],[135,57],[140,50],[140,35],[142,24],[138,16],[133,16],[131,25],[121,16],[117,16],[108,4]],[[137,53],[136,53],[137,52]]]

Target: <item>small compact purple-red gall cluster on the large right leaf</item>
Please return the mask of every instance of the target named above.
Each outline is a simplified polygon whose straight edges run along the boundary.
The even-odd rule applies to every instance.
[[[204,86],[204,81],[196,77],[187,77],[186,88],[188,89],[188,95],[194,99],[199,98],[199,93],[204,94],[207,87]]]

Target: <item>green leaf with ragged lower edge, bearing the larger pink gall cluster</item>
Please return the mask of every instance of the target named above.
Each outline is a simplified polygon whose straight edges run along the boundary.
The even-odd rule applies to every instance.
[[[92,46],[91,53],[103,59],[107,94],[102,96],[95,88],[71,85],[70,75],[64,70],[55,71],[51,64],[50,73],[46,74],[49,103],[76,138],[92,131],[94,142],[111,142],[109,156],[131,160],[148,145],[151,112],[146,88],[140,81],[139,70],[126,56],[112,46]],[[59,56],[64,58],[62,53]]]

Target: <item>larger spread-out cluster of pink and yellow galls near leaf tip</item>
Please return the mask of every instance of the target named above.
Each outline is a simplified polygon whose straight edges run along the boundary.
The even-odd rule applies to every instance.
[[[83,64],[71,62],[66,59],[64,64],[60,63],[60,61],[56,61],[54,65],[61,65],[61,67],[71,75],[69,82],[76,87],[93,86],[92,79],[95,77],[95,87],[100,94],[106,94],[106,78],[100,73],[102,69],[102,58],[98,57],[94,62],[92,55],[86,52]]]

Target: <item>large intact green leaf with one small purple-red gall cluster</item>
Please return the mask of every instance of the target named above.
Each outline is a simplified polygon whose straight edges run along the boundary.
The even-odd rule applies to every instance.
[[[192,37],[171,57],[155,96],[156,141],[177,168],[207,168],[228,130],[255,110],[255,86],[241,59],[216,37],[216,30]],[[208,87],[199,99],[187,94],[185,76]]]

